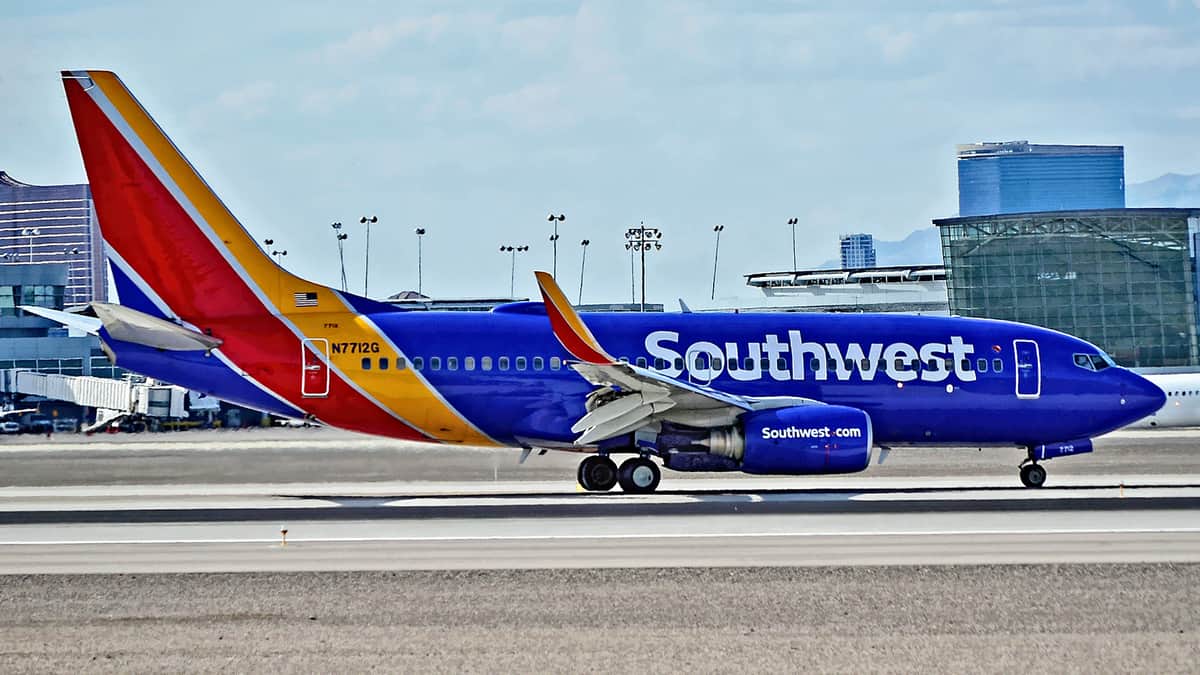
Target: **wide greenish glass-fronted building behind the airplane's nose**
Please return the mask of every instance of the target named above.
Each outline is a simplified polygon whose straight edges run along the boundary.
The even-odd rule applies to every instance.
[[[1126,366],[1200,365],[1200,209],[935,220],[950,312],[1032,323]]]

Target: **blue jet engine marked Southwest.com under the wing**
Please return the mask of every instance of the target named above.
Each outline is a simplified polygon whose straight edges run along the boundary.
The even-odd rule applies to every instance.
[[[824,405],[748,412],[739,428],[714,430],[708,447],[746,473],[853,473],[871,461],[871,418]]]

